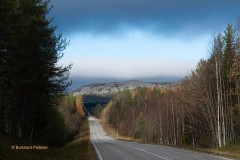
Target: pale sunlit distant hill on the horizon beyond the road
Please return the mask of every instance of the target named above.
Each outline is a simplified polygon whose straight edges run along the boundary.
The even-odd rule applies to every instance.
[[[73,91],[74,95],[109,95],[123,91],[125,89],[134,90],[138,87],[147,88],[170,88],[177,86],[178,83],[172,82],[142,82],[137,80],[124,81],[124,82],[112,82],[102,84],[85,85],[81,88]]]

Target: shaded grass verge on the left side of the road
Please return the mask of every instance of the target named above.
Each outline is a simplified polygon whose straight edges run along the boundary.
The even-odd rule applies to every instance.
[[[32,146],[22,139],[6,134],[0,134],[0,159],[1,160],[96,160],[93,146],[90,142],[88,121],[81,123],[80,134],[75,140],[65,147],[48,147],[45,150],[16,150],[11,146]],[[36,145],[38,146],[38,145]]]

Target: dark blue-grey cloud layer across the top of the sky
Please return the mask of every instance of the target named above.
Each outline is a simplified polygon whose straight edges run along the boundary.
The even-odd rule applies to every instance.
[[[240,15],[239,0],[52,0],[63,33],[109,34],[128,28],[154,33],[218,32]]]

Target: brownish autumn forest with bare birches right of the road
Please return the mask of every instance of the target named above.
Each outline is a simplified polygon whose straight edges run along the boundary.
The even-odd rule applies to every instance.
[[[175,88],[124,90],[95,115],[144,142],[240,144],[240,26],[217,34],[206,59]]]

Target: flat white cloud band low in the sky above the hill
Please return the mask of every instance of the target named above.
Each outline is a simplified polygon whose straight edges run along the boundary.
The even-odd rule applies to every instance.
[[[196,60],[157,58],[89,57],[68,59],[73,63],[72,76],[105,78],[138,78],[159,76],[184,76],[196,67]]]

